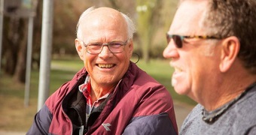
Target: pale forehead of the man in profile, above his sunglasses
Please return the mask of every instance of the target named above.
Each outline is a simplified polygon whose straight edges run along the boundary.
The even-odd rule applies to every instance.
[[[206,13],[206,0],[182,1],[175,13],[171,34],[198,35],[203,34],[203,15]]]

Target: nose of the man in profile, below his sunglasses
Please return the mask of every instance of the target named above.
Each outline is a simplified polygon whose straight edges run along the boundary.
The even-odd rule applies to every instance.
[[[173,40],[171,40],[168,45],[166,46],[166,49],[163,50],[163,57],[164,58],[177,58],[178,50],[175,47],[175,44],[173,43]]]

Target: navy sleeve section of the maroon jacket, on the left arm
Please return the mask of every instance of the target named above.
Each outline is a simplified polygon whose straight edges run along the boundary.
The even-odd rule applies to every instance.
[[[38,113],[35,114],[33,124],[26,134],[48,134],[52,118],[53,115],[48,110],[48,107],[44,104],[41,110],[39,110]]]

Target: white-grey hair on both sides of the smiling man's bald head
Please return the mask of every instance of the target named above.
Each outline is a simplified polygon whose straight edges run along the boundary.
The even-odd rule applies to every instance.
[[[84,12],[81,14],[79,20],[78,20],[78,24],[77,24],[77,38],[78,39],[82,39],[82,30],[80,28],[80,24],[82,22],[82,20],[84,20],[85,17],[87,17],[87,15],[95,10],[95,7],[90,7],[87,10],[84,10]],[[136,27],[133,23],[133,20],[130,19],[130,17],[128,17],[126,14],[120,12],[121,15],[123,16],[123,19],[126,21],[127,23],[127,34],[128,34],[128,39],[133,39],[133,34],[136,32]]]

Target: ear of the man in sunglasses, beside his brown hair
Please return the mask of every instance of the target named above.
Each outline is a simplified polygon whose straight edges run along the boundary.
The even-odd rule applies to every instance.
[[[220,71],[227,72],[233,65],[239,53],[240,42],[237,37],[227,37],[221,42]]]

